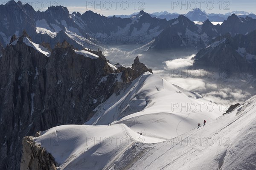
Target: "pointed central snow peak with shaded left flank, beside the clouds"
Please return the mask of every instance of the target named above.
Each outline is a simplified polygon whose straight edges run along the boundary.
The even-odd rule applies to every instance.
[[[204,119],[221,116],[221,107],[203,96],[145,73],[119,95],[99,105],[85,125],[125,124],[143,136],[171,139],[195,128]]]

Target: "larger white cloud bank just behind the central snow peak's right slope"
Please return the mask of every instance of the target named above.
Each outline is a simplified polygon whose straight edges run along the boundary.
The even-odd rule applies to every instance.
[[[198,70],[197,70],[198,71]],[[156,70],[154,74],[160,74],[168,82],[178,85],[181,88],[204,96],[205,99],[211,100],[219,104],[236,104],[242,103],[249,99],[253,94],[250,94],[246,89],[236,84],[221,83],[213,81],[213,79],[205,79],[202,77],[179,77],[173,76],[172,71],[169,70]],[[240,83],[239,83],[240,84]],[[254,89],[253,87],[250,89]]]

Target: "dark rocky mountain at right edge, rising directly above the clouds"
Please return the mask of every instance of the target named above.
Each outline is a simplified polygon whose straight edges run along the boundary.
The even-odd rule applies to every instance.
[[[253,47],[256,45],[255,36],[256,30],[247,35],[240,34],[232,37],[226,34],[218,37],[212,45],[196,54],[191,68],[227,71],[230,76],[246,73],[255,75],[256,48]]]

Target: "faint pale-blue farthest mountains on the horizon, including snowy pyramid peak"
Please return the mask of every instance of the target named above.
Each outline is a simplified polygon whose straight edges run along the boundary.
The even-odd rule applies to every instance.
[[[134,14],[138,14],[138,13],[134,13]],[[121,18],[130,18],[132,17],[134,14],[131,15],[115,15],[116,17],[121,17]],[[186,16],[187,18],[189,18],[189,20],[192,21],[200,21],[203,22],[205,20],[209,20],[211,22],[223,22],[224,20],[227,20],[227,17],[232,15],[232,14],[236,14],[239,17],[252,17],[252,18],[256,18],[256,15],[253,13],[249,13],[246,11],[232,11],[232,12],[228,12],[226,14],[207,14],[205,11],[201,11],[200,8],[195,8],[192,11],[189,11],[187,14],[183,14],[184,16]],[[166,19],[166,20],[172,20],[174,18],[177,18],[180,14],[178,13],[169,13],[167,11],[161,11],[161,12],[154,12],[152,14],[150,14],[151,17],[157,17],[160,19]],[[109,16],[109,17],[113,17],[113,16]]]

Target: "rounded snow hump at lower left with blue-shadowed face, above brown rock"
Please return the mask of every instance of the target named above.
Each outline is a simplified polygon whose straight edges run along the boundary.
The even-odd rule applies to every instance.
[[[111,126],[63,125],[33,139],[60,164],[60,170],[100,170],[112,164],[135,142],[163,140],[142,137],[123,124]]]

